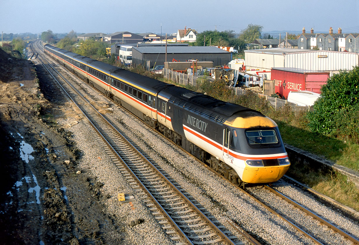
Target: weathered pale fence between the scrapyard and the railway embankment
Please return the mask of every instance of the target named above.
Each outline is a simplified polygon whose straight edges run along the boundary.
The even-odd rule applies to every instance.
[[[163,77],[167,78],[168,80],[172,80],[173,82],[182,84],[182,85],[196,86],[197,78],[200,78],[202,76],[192,76],[192,75],[187,75],[187,74],[184,74],[181,72],[172,71],[169,69],[163,69]],[[208,80],[213,80],[213,78],[208,77]],[[242,88],[233,88],[233,87],[229,87],[229,88],[232,90],[232,94],[237,95],[237,96],[244,95],[248,92],[246,89],[242,89]],[[284,105],[289,104],[290,108],[292,108],[293,112],[313,110],[313,106],[298,106],[297,104],[288,102],[287,100],[271,97],[271,96],[260,94],[260,93],[258,93],[258,96],[264,96],[265,99],[275,109],[280,109]]]

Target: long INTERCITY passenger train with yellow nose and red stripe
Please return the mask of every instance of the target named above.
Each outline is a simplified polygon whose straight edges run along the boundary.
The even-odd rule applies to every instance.
[[[268,183],[290,166],[277,124],[256,110],[46,44],[45,52],[231,182]]]

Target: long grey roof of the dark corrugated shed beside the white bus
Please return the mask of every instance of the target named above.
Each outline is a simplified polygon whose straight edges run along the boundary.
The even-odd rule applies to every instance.
[[[140,53],[165,53],[166,47],[164,46],[143,46],[143,47],[132,47]],[[203,47],[203,46],[167,46],[167,53],[228,53],[218,47]]]

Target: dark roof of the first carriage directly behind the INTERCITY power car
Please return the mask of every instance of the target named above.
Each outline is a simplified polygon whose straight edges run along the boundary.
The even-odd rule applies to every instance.
[[[111,76],[118,78],[121,81],[125,81],[128,84],[141,87],[153,94],[158,94],[159,91],[166,87],[174,87],[173,84],[165,83],[150,77],[142,76],[135,72],[130,72],[126,69],[119,69],[111,73]]]

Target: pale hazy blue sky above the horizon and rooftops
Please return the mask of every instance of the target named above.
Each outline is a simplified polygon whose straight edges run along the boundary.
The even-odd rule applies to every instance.
[[[129,31],[174,33],[178,29],[234,30],[248,24],[264,31],[359,33],[359,0],[0,0],[4,33]]]

